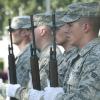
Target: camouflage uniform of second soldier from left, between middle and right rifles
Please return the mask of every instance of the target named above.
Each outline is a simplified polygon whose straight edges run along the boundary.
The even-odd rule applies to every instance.
[[[50,59],[50,47],[52,45],[47,46],[43,51],[40,52],[39,55],[39,69],[40,69],[40,82],[41,89],[43,90],[45,87],[49,86],[49,59]],[[58,58],[62,55],[60,49],[57,47],[57,61]],[[20,90],[22,91],[20,93]],[[28,100],[28,89],[20,88],[20,90],[16,93],[16,98],[20,99],[20,95],[22,96],[20,100]]]

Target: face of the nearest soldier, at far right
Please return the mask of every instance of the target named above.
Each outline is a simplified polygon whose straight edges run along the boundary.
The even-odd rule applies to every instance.
[[[84,44],[84,25],[81,25],[78,21],[69,23],[69,41],[74,46],[82,46]]]

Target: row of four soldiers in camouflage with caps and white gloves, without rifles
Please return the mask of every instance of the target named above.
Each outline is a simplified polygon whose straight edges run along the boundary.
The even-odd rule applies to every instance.
[[[54,39],[51,14],[36,14],[33,20],[41,90],[32,87],[30,48],[27,46],[29,52],[23,60],[20,60],[22,54],[17,58],[21,65],[16,64],[17,84],[0,83],[3,96],[18,100],[100,100],[100,4],[73,3],[68,5],[67,12],[56,12],[55,19],[56,43],[65,50],[62,54],[56,46],[59,85],[50,87],[49,82],[50,48]],[[32,41],[30,17],[14,20],[12,35],[22,49],[25,42],[19,45],[21,37]],[[27,64],[23,63],[26,59]]]

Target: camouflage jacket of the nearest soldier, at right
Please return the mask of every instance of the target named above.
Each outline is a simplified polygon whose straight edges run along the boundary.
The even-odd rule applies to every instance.
[[[100,38],[88,43],[75,59],[64,77],[66,93],[55,100],[100,100]]]

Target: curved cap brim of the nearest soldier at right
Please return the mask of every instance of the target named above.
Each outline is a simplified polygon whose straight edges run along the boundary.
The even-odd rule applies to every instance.
[[[71,23],[71,22],[77,21],[79,18],[80,18],[80,16],[77,16],[77,15],[75,16],[75,15],[66,14],[61,19],[61,21],[65,22],[65,23]]]

